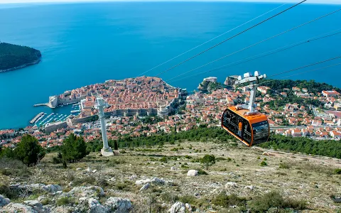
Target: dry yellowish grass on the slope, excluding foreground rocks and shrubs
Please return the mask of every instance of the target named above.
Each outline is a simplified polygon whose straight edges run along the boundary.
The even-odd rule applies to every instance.
[[[213,154],[220,160],[210,166],[208,175],[187,177],[189,169],[203,169],[199,159],[205,154]],[[310,211],[333,212],[340,208],[330,199],[330,195],[341,194],[341,176],[333,173],[337,165],[341,167],[338,159],[270,151],[264,155],[264,150],[258,148],[210,142],[186,142],[180,146],[167,144],[162,148],[131,148],[112,158],[90,153],[87,158],[69,164],[66,169],[52,163],[53,155],[46,155],[38,168],[29,168],[33,173],[40,170],[40,182],[60,184],[69,190],[77,185],[100,185],[107,197],[131,199],[134,212],[144,212],[149,208],[163,212],[162,203],[170,207],[175,200],[186,197],[195,199],[191,202],[196,207],[205,208],[210,206],[213,197],[225,190],[227,182],[237,183],[237,187],[228,187],[226,190],[240,197],[256,197],[268,191],[278,191],[284,197],[306,200]],[[267,165],[261,166],[262,161]],[[171,170],[172,166],[177,170]],[[85,169],[88,167],[97,171],[87,173]],[[150,187],[139,192],[141,186],[134,185],[135,180],[129,180],[131,175],[137,175],[136,180],[158,177],[171,180],[174,184]],[[20,182],[38,180],[37,177],[19,179]],[[8,184],[13,182],[11,175],[0,175],[0,180]],[[253,186],[253,190],[246,188],[249,185]]]

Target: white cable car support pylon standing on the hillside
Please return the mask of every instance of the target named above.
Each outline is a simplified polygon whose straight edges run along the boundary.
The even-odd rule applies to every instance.
[[[107,126],[105,124],[105,116],[104,116],[104,107],[109,107],[107,102],[104,102],[102,97],[96,97],[96,104],[94,105],[95,109],[98,109],[99,121],[101,122],[101,130],[102,130],[102,140],[103,140],[103,148],[101,149],[102,156],[111,156],[114,155],[112,152],[112,148],[108,145],[107,138]]]

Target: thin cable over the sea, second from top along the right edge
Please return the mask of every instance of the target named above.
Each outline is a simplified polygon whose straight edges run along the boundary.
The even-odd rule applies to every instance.
[[[336,31],[339,31],[340,29],[337,29]],[[332,31],[333,32],[333,31]],[[321,36],[321,35],[318,35],[318,36],[315,36],[313,38],[309,38],[308,40],[305,40],[305,41],[301,41],[301,42],[298,42],[298,43],[293,43],[291,45],[286,45],[286,46],[283,46],[281,48],[276,48],[274,50],[269,50],[269,51],[266,51],[264,53],[261,53],[261,54],[258,54],[258,55],[254,55],[254,56],[251,56],[251,57],[248,57],[248,58],[244,58],[242,60],[238,60],[237,62],[232,62],[232,63],[229,63],[227,65],[222,65],[220,67],[216,67],[216,68],[213,68],[211,70],[206,70],[206,71],[203,71],[203,72],[199,72],[199,73],[195,73],[194,75],[190,75],[190,76],[187,76],[187,77],[183,77],[183,78],[180,78],[178,80],[171,80],[171,81],[168,81],[166,80],[168,83],[171,83],[171,82],[176,82],[176,81],[179,81],[179,80],[184,80],[188,77],[194,77],[194,76],[197,76],[197,75],[201,75],[201,74],[204,74],[204,73],[207,73],[207,72],[212,72],[212,71],[217,71],[217,70],[221,70],[223,68],[226,68],[226,67],[232,67],[234,65],[240,65],[240,64],[243,64],[244,62],[249,62],[249,61],[252,61],[252,60],[256,60],[256,59],[259,59],[259,58],[264,58],[266,56],[269,56],[269,55],[273,55],[275,53],[279,53],[283,50],[288,50],[288,49],[291,49],[291,48],[295,48],[299,45],[303,45],[305,43],[311,43],[312,41],[315,41],[315,40],[320,40],[320,39],[323,39],[323,38],[328,38],[332,35],[338,35],[340,34],[340,32],[337,32],[337,33],[332,33],[330,35],[325,35],[326,33],[323,33],[324,36]],[[264,55],[265,54],[265,55]],[[177,76],[179,77],[179,76]]]

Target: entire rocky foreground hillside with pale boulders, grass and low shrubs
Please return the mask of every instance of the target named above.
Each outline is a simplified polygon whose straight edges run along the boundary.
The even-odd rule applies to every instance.
[[[206,154],[215,163],[200,163]],[[341,160],[186,141],[90,153],[63,168],[0,162],[0,212],[340,212]]]

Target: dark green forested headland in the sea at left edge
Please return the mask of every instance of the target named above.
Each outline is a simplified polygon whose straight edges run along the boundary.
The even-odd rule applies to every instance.
[[[0,43],[0,72],[17,70],[40,62],[39,50],[10,43]]]

